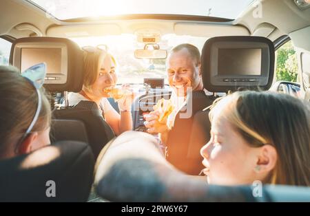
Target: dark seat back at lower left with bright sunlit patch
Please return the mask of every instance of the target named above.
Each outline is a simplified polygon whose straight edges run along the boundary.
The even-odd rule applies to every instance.
[[[94,157],[83,142],[62,141],[29,154],[0,160],[0,202],[85,202]],[[49,181],[52,181],[49,182]],[[54,186],[50,188],[50,186]],[[54,193],[55,197],[48,197]]]

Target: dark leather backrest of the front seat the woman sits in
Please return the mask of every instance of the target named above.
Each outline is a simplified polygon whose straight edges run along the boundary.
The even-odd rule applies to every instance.
[[[115,137],[95,102],[82,100],[74,107],[54,109],[53,118],[59,121],[54,125],[54,140],[87,140],[95,159],[105,144]]]

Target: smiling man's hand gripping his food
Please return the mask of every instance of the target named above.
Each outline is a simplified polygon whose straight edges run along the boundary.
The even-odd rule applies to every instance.
[[[167,118],[159,122],[159,112],[151,111],[149,114],[145,115],[144,125],[147,128],[147,133],[166,133],[169,131],[167,127]]]

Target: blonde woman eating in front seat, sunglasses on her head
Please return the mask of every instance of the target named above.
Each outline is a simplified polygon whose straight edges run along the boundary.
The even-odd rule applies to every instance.
[[[115,58],[101,46],[87,46],[83,47],[83,50],[85,72],[83,88],[79,93],[68,94],[69,105],[76,105],[81,100],[94,101],[116,135],[132,130],[133,94],[125,94],[118,99],[120,114],[107,100],[110,97],[107,89],[114,87],[117,82]]]

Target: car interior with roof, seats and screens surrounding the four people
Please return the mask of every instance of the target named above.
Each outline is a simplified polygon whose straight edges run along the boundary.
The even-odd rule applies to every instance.
[[[79,92],[83,86],[85,45],[104,44],[119,59],[118,85],[127,83],[134,89],[133,130],[142,132],[146,132],[143,116],[153,111],[158,100],[172,95],[165,71],[169,51],[181,43],[198,47],[203,86],[209,98],[193,96],[196,99],[191,100],[200,107],[194,116],[180,121],[170,138],[176,143],[172,152],[178,152],[170,155],[171,160],[188,175],[198,175],[202,169],[200,148],[208,142],[211,127],[209,109],[205,108],[216,98],[251,89],[278,91],[310,102],[309,1],[238,1],[240,11],[231,17],[225,17],[230,1],[220,6],[206,1],[210,5],[207,14],[156,11],[155,1],[141,13],[126,8],[124,1],[116,1],[120,2],[124,4],[121,12],[109,14],[98,9],[98,1],[90,1],[90,6],[79,1],[72,8],[70,3],[57,5],[53,1],[1,1],[0,65],[10,64],[23,71],[37,63],[47,63],[50,67],[44,87],[52,96],[52,145],[0,161],[0,170],[6,173],[0,175],[1,202],[103,201],[100,194],[92,191],[94,163],[116,135],[95,102],[68,104],[68,92]],[[135,3],[143,8],[143,1]],[[185,8],[191,4],[192,8],[208,6],[203,1],[181,1],[183,4]],[[113,6],[116,7],[114,3],[110,7]],[[81,12],[83,7],[97,9],[87,14]],[[187,9],[191,11],[191,7]],[[288,58],[296,61],[293,81],[277,75],[278,55],[287,43],[292,43],[294,50],[294,59]],[[233,72],[227,74],[227,68]],[[117,102],[108,100],[119,111]],[[59,185],[56,197],[47,197],[46,187],[42,190],[42,182],[50,179]],[[266,190],[270,199],[254,201],[281,201],[283,195],[286,201],[310,201],[309,187],[274,186]]]

